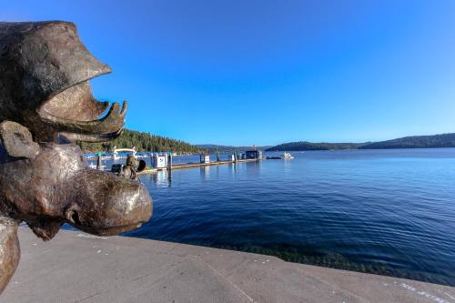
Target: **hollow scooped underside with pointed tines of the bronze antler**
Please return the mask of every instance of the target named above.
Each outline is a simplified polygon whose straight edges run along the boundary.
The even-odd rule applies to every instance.
[[[116,138],[125,125],[126,102],[108,107],[108,102],[92,96],[84,81],[52,96],[38,109],[38,115],[45,125],[70,140],[99,142]]]

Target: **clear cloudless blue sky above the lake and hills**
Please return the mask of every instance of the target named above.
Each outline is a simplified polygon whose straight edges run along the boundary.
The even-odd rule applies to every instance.
[[[455,1],[6,1],[0,20],[76,23],[113,68],[94,95],[190,143],[455,132]]]

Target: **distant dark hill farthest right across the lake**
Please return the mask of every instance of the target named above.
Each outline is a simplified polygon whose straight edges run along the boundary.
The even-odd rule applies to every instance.
[[[361,149],[455,147],[455,133],[432,136],[405,136],[359,146]]]

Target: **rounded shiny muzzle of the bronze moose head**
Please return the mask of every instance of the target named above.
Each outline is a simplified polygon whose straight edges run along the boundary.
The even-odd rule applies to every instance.
[[[140,227],[152,217],[152,197],[137,180],[83,169],[72,181],[75,196],[71,205],[77,212],[66,213],[66,219],[77,227],[114,235]]]

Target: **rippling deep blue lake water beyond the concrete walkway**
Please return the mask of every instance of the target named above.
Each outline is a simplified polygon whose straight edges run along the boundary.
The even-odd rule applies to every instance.
[[[455,148],[293,156],[141,176],[153,217],[126,235],[455,286]]]

